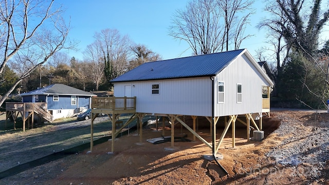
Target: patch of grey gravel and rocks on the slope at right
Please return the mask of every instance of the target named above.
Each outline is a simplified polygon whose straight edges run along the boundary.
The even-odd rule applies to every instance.
[[[275,159],[276,165],[298,173],[291,175],[302,175],[309,181],[326,176],[323,172],[329,160],[329,122],[314,121],[313,126],[304,126],[300,119],[286,119],[291,117],[287,114],[276,114],[281,125],[273,133],[284,139],[265,155]]]

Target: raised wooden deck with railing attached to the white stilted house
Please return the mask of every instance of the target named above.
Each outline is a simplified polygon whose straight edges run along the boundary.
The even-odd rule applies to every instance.
[[[92,113],[136,113],[136,97],[92,97]]]

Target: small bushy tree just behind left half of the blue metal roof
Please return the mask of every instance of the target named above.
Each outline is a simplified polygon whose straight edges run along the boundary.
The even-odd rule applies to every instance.
[[[133,69],[145,62],[162,60],[160,55],[148,49],[145,45],[135,44],[130,47],[135,55],[135,59],[129,62],[128,69]]]

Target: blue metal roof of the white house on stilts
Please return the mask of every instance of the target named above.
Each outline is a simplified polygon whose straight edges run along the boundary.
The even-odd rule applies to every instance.
[[[217,75],[245,49],[144,63],[110,82],[130,82]]]

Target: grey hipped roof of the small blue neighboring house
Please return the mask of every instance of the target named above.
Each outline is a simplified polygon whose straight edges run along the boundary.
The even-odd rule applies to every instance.
[[[51,84],[46,87],[32,90],[28,93],[23,93],[20,96],[29,95],[79,95],[79,96],[96,96],[92,93],[64,85],[64,84]]]

